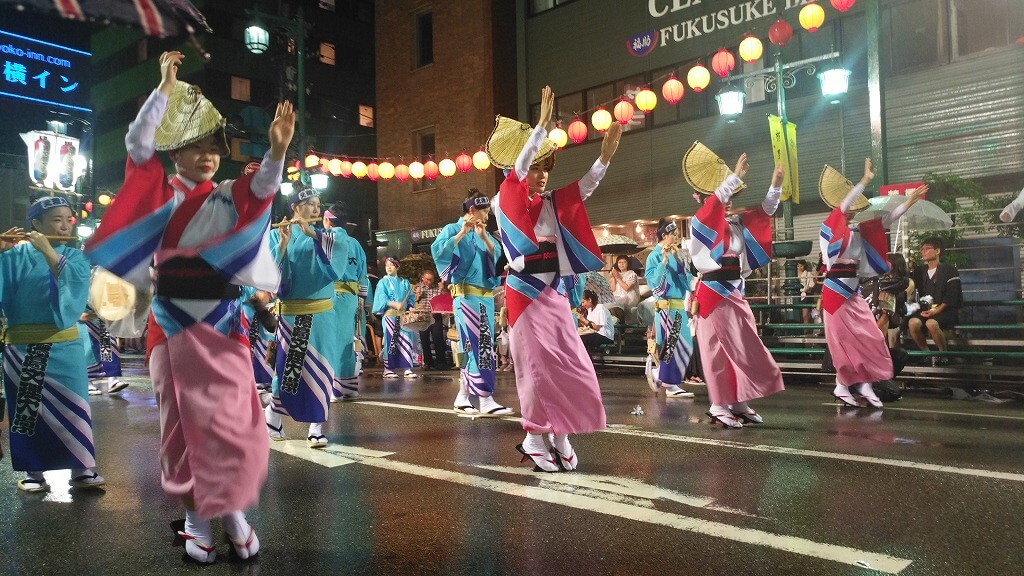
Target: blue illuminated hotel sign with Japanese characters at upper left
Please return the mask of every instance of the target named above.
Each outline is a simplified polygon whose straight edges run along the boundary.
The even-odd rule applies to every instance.
[[[92,112],[80,83],[89,52],[0,30],[0,96]]]

